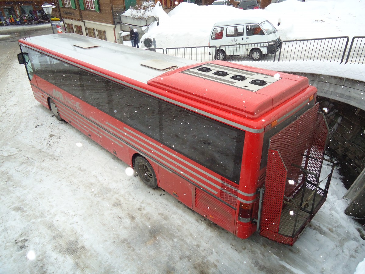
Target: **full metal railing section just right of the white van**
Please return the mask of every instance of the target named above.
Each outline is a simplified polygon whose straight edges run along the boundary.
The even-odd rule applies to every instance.
[[[278,61],[342,63],[348,43],[348,36],[283,41]]]

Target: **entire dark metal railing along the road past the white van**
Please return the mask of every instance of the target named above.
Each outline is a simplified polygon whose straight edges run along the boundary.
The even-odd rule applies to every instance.
[[[238,45],[222,45],[197,47],[170,47],[165,53],[181,58],[191,59],[197,62],[206,62],[217,59],[227,61],[321,61],[337,62],[345,61],[350,64],[365,63],[365,36],[356,36],[352,39],[350,47],[349,37],[328,37],[301,40],[282,41],[278,45],[276,41],[266,43],[251,43]],[[270,48],[266,52],[264,48]],[[261,53],[253,54],[252,50],[260,49]],[[155,49],[164,53],[164,49]],[[217,55],[218,54],[218,55]],[[255,56],[253,56],[255,55]],[[259,57],[259,58],[257,58]]]

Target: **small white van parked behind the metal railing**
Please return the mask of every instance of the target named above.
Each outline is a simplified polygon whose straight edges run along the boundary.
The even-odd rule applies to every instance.
[[[210,48],[215,60],[226,60],[231,55],[247,55],[258,61],[263,54],[273,54],[279,50],[281,40],[273,24],[264,18],[236,19],[215,23],[209,46],[217,47]],[[222,47],[219,49],[219,46]]]

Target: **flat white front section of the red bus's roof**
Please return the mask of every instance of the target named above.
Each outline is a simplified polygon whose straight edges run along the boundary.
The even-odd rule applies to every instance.
[[[196,61],[169,56],[145,49],[137,49],[118,43],[86,37],[74,33],[42,35],[20,40],[20,43],[31,46],[32,43],[43,48],[43,51],[79,63],[77,60],[85,62],[91,66],[96,66],[119,75],[147,83],[164,73],[141,63],[149,60],[156,60],[161,57],[168,62],[171,67],[182,67],[196,64]],[[83,48],[75,45],[93,45],[93,47]],[[61,54],[62,56],[60,56]],[[81,64],[87,66],[86,64]]]

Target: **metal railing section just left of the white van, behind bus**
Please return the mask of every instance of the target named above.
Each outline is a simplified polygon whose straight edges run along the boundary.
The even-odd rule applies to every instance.
[[[206,62],[214,60],[214,54],[216,47],[209,46],[197,46],[197,47],[167,47],[166,54],[190,59],[198,62]]]

